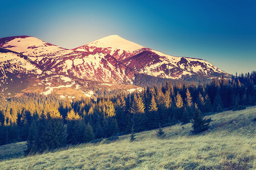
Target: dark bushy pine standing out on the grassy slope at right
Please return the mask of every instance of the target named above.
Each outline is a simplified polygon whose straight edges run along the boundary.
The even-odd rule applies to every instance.
[[[191,122],[193,134],[198,134],[209,129],[209,119],[205,119],[201,116],[201,111],[199,111],[199,109],[196,109]]]

